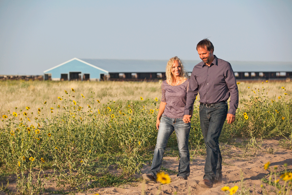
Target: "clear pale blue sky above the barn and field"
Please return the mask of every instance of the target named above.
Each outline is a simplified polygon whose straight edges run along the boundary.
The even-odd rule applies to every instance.
[[[74,57],[200,60],[207,37],[226,61],[291,62],[292,1],[0,0],[0,75]]]

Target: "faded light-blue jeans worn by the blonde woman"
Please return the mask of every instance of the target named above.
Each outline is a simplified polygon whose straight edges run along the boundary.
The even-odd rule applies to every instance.
[[[156,146],[154,149],[154,157],[151,169],[148,171],[148,173],[151,173],[154,178],[156,178],[156,175],[160,170],[164,150],[166,148],[168,138],[171,136],[173,131],[175,131],[176,134],[178,151],[180,155],[177,176],[187,179],[190,175],[190,152],[188,146],[190,128],[191,124],[184,123],[182,118],[168,118],[165,115],[162,115],[157,134]]]

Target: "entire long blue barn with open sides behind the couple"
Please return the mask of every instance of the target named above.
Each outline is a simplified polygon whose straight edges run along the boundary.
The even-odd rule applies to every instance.
[[[168,60],[78,59],[44,71],[45,80],[159,80],[166,79]],[[192,72],[200,61],[183,60],[185,70]],[[230,61],[237,79],[291,78],[291,62]]]

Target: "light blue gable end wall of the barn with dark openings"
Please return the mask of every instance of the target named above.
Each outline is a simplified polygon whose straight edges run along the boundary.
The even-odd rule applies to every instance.
[[[100,80],[108,76],[108,71],[95,65],[73,58],[44,71],[45,80]]]

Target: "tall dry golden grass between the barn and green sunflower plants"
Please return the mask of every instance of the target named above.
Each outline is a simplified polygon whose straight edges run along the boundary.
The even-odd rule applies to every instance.
[[[281,87],[285,87],[287,94],[292,94],[291,82],[279,81],[240,81],[238,84],[242,94],[251,94],[252,89],[257,90],[264,87],[268,89],[268,97],[277,99],[276,94],[281,94]],[[248,88],[250,87],[250,88]],[[29,106],[30,112],[36,113],[38,108],[44,106],[46,101],[48,105],[58,103],[58,97],[65,95],[65,91],[71,92],[71,88],[75,90],[76,98],[81,98],[81,94],[89,99],[94,92],[95,99],[101,103],[117,100],[136,101],[142,96],[144,99],[161,99],[161,81],[160,82],[82,82],[82,81],[1,81],[0,82],[0,116],[7,114],[7,111],[25,110]],[[241,96],[239,96],[241,99]],[[247,98],[243,96],[243,98]],[[198,96],[199,99],[199,96]],[[198,104],[198,102],[197,102]],[[86,106],[82,105],[81,106]]]

